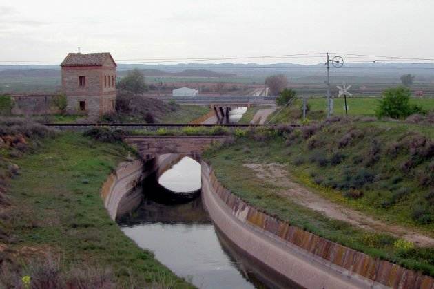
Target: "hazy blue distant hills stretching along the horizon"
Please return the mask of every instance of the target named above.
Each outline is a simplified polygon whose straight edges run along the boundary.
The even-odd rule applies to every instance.
[[[263,81],[272,74],[285,74],[291,81],[324,80],[324,63],[300,65],[294,63],[187,63],[172,65],[118,64],[118,75],[127,70],[141,69],[150,77],[225,77],[254,78]],[[60,77],[59,65],[0,65],[0,78],[11,77]],[[344,63],[342,68],[331,67],[331,77],[335,81],[345,78],[358,78],[355,82],[399,82],[402,74],[413,74],[416,81],[434,81],[434,64],[431,63]],[[0,79],[1,81],[1,79]]]

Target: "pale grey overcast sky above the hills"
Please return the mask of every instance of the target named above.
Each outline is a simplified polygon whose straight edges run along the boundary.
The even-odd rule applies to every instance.
[[[432,0],[0,0],[0,61],[61,60],[77,47],[116,60],[327,51],[434,58],[433,13]]]

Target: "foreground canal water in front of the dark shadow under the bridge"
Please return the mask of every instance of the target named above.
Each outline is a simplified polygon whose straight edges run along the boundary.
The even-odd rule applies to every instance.
[[[147,199],[119,223],[138,246],[198,288],[254,288],[220,245],[200,197],[178,205]]]

